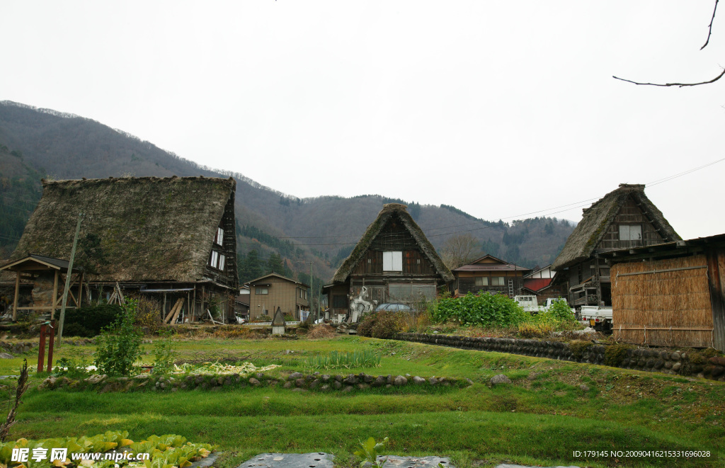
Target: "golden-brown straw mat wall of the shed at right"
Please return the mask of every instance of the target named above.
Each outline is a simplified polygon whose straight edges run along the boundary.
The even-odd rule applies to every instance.
[[[614,338],[656,346],[711,346],[707,265],[704,255],[614,265]]]

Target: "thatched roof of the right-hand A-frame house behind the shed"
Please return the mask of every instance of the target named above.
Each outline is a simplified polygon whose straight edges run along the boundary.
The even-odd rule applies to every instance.
[[[629,197],[642,209],[642,213],[652,222],[664,242],[681,240],[662,212],[645,195],[645,185],[620,184],[615,191],[607,193],[595,204],[584,209],[584,218],[569,235],[564,248],[554,260],[552,269],[566,268],[589,259]]]

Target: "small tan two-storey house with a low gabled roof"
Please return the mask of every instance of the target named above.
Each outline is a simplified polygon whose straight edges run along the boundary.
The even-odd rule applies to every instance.
[[[268,322],[277,309],[299,320],[300,311],[310,310],[310,286],[291,278],[270,273],[245,284],[249,287],[249,319]]]

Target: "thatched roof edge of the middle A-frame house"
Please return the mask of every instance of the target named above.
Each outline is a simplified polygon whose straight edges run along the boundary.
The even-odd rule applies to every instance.
[[[418,243],[418,247],[421,248],[423,254],[428,257],[428,260],[431,261],[433,267],[436,269],[436,272],[441,275],[442,280],[446,283],[455,280],[455,277],[453,277],[450,269],[445,266],[441,257],[439,257],[436,253],[434,246],[430,241],[428,241],[426,235],[423,234],[421,227],[413,221],[413,217],[408,214],[406,208],[407,206],[399,203],[389,203],[383,206],[383,209],[381,209],[380,213],[378,213],[376,220],[368,226],[368,229],[365,230],[363,237],[357,242],[357,246],[352,249],[352,253],[350,253],[347,259],[342,262],[335,272],[334,277],[332,277],[333,283],[344,283],[347,280],[347,277],[350,272],[352,272],[352,269],[355,268],[357,262],[360,262],[360,259],[363,258],[365,251],[370,248],[370,244],[373,243],[376,236],[380,233],[383,227],[385,227],[391,217],[397,217],[403,225],[405,225],[405,228],[408,230],[410,235],[413,235],[413,239],[415,239],[415,242]]]

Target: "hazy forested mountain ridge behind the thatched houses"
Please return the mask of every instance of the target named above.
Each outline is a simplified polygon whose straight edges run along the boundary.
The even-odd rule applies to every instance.
[[[244,279],[275,264],[308,280],[332,277],[385,203],[408,205],[431,243],[441,249],[456,233],[470,233],[478,250],[527,267],[550,264],[573,230],[555,218],[490,222],[454,206],[421,205],[380,195],[298,199],[244,175],[215,170],[159,149],[148,141],[72,114],[0,101],[0,248],[9,254],[41,196],[41,177],[171,175],[234,177],[236,219]],[[247,260],[252,249],[255,259]],[[0,251],[0,256],[3,251]],[[255,263],[256,262],[256,263]],[[260,265],[265,262],[265,265]]]

